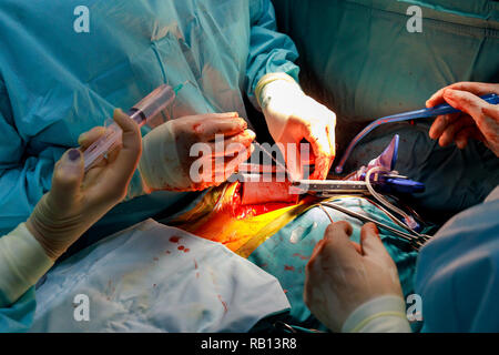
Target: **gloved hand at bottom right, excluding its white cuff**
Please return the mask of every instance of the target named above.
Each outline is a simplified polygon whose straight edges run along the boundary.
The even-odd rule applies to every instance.
[[[349,241],[352,233],[349,223],[332,223],[306,266],[305,303],[334,332],[339,332],[348,316],[373,298],[403,298],[397,267],[376,225],[363,226],[360,245]]]

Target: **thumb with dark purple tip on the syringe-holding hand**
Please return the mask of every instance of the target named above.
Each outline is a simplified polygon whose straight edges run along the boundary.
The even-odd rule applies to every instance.
[[[77,199],[84,176],[82,154],[78,149],[67,151],[55,164],[49,197],[53,206],[69,207]]]

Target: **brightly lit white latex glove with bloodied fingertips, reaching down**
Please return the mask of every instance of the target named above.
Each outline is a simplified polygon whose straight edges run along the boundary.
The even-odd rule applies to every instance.
[[[325,179],[336,154],[336,114],[325,105],[307,97],[295,80],[285,73],[264,75],[255,90],[272,138],[281,143],[286,164],[293,179],[303,179],[303,165],[307,163],[299,154],[301,142],[312,145],[310,162],[315,170],[309,179]],[[288,149],[296,144],[296,153]]]

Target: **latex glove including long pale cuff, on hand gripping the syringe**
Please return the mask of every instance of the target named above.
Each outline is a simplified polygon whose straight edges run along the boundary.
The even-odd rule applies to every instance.
[[[0,239],[0,307],[14,303],[49,271],[92,224],[126,193],[141,155],[139,126],[120,110],[122,146],[84,173],[82,151],[105,133],[95,128],[80,135],[54,166],[52,189],[34,206],[26,223]]]

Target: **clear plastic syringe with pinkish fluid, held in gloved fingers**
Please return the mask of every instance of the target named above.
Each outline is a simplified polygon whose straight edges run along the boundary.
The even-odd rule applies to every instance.
[[[128,114],[139,124],[139,126],[143,126],[147,123],[147,120],[154,118],[173,103],[182,87],[183,84],[180,84],[173,89],[170,85],[163,84],[156,88],[138,104],[131,108]],[[116,123],[109,125],[105,135],[93,142],[83,152],[85,172],[94,164],[99,163],[105,154],[112,152],[121,144],[121,136],[122,131]]]

